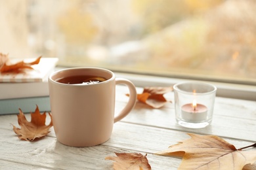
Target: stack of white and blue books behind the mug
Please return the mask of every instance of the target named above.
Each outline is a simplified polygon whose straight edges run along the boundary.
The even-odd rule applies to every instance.
[[[11,59],[14,63],[16,59]],[[31,59],[24,59],[24,62]],[[33,59],[32,59],[33,60]],[[54,71],[58,58],[41,58],[33,70],[22,73],[0,73],[0,114],[51,111],[48,76]]]

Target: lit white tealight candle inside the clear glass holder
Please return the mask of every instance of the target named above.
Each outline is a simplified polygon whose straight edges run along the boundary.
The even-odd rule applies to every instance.
[[[181,107],[181,118],[188,122],[201,122],[207,118],[207,107],[194,100]]]

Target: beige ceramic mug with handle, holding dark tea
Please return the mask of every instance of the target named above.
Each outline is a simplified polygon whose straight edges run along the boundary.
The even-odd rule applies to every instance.
[[[89,80],[82,84],[60,81],[72,76],[106,80],[96,83]],[[116,84],[125,84],[130,92],[129,101],[119,114],[114,114]],[[112,71],[94,67],[62,69],[52,73],[49,76],[49,93],[56,137],[68,146],[95,146],[108,141],[114,122],[133,109],[137,98],[131,81],[115,78]]]

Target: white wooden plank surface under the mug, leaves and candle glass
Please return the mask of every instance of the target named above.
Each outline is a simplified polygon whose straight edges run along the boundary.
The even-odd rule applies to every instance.
[[[138,93],[142,90],[137,88]],[[125,86],[117,86],[116,91],[118,112],[128,100],[125,95],[128,90]],[[173,101],[173,92],[166,97]],[[30,120],[30,114],[26,117]],[[202,129],[179,126],[173,103],[167,103],[161,109],[137,103],[128,116],[114,124],[112,136],[106,143],[85,148],[59,143],[53,127],[51,133],[41,140],[21,141],[12,131],[11,124],[18,126],[15,114],[0,116],[0,169],[112,169],[112,161],[104,158],[115,156],[114,152],[147,154],[154,170],[177,169],[180,158],[155,153],[190,138],[186,133],[217,135],[236,148],[255,143],[256,101],[216,97],[213,122]],[[256,163],[247,165],[247,169],[256,169]]]

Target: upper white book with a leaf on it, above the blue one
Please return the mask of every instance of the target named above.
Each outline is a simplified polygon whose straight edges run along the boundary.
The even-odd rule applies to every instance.
[[[24,59],[25,62],[34,59]],[[12,59],[12,63],[20,59]],[[0,73],[0,99],[39,97],[49,95],[48,76],[54,71],[58,58],[41,58],[35,70],[24,73]]]

